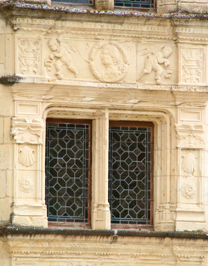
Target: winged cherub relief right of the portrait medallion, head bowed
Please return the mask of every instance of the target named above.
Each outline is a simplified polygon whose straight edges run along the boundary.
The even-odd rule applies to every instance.
[[[142,53],[140,53],[141,55],[148,55],[148,57],[145,62],[144,70],[140,73],[137,80],[141,81],[144,74],[149,74],[152,70],[154,70],[156,72],[156,84],[160,85],[161,75],[163,73],[163,69],[160,64],[163,63],[165,69],[167,69],[167,71],[165,71],[165,78],[170,79],[171,74],[173,73],[173,67],[169,66],[170,62],[167,59],[172,54],[172,48],[170,46],[156,45],[154,47],[141,49],[140,51],[142,51]]]

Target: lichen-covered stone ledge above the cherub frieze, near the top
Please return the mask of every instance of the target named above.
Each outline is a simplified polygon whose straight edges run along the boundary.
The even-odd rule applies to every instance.
[[[35,4],[34,1],[13,2],[4,1],[0,4],[0,11],[9,8],[30,9],[30,10],[44,10],[54,12],[64,12],[70,14],[90,14],[90,15],[115,15],[122,17],[143,17],[143,18],[161,18],[161,19],[208,19],[206,14],[186,14],[186,13],[141,13],[141,12],[127,12],[127,11],[98,11],[95,9],[80,9],[72,7],[48,6]]]

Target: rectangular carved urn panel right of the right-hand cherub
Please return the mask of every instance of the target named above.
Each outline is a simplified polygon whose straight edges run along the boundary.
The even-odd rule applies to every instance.
[[[181,47],[181,82],[204,83],[204,49]]]

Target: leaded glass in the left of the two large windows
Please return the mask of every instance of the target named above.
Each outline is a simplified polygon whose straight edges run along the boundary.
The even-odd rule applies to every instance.
[[[89,125],[46,123],[48,221],[88,222]]]

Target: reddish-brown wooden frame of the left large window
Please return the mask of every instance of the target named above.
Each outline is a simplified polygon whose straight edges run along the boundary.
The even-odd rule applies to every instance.
[[[92,120],[91,119],[68,119],[68,118],[46,118],[46,123],[89,125],[89,171],[88,171],[88,223],[79,222],[56,222],[48,221],[48,227],[81,227],[91,229],[91,203],[92,203]],[[46,195],[45,195],[46,197]]]

